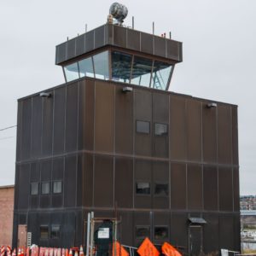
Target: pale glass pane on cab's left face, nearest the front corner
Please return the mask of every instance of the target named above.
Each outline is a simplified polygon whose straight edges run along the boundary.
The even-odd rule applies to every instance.
[[[109,79],[108,73],[108,51],[103,51],[93,56],[96,79]]]

